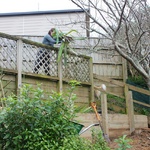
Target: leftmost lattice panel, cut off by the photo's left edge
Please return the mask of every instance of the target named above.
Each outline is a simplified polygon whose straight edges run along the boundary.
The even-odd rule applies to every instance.
[[[17,42],[0,37],[0,67],[4,69],[17,68]]]

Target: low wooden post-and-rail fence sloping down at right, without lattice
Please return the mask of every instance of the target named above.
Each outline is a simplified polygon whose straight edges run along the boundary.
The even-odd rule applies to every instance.
[[[110,78],[103,78],[100,77],[98,75],[94,75],[94,78],[96,78],[97,80],[100,80],[103,83],[106,84],[112,84],[118,87],[122,87],[124,89],[124,95],[118,94],[117,92],[112,92],[110,89],[107,89],[106,92],[104,93],[104,91],[102,91],[102,89],[100,87],[94,87],[95,90],[99,90],[102,91],[101,94],[101,109],[102,109],[102,122],[103,122],[103,127],[104,127],[104,131],[106,134],[108,134],[108,114],[107,114],[107,96],[106,94],[111,94],[111,95],[115,95],[121,98],[124,98],[126,101],[126,112],[127,112],[127,116],[128,116],[128,123],[129,123],[129,130],[130,130],[130,134],[132,132],[135,131],[135,127],[136,127],[136,122],[135,122],[135,114],[134,114],[134,103],[146,106],[146,107],[150,107],[149,104],[146,103],[142,103],[139,102],[137,100],[134,100],[132,97],[132,92],[130,90],[134,90],[143,94],[146,94],[148,96],[150,96],[150,91],[148,90],[144,90],[142,88],[138,88],[129,84],[126,84],[124,82],[120,82],[120,81],[116,81],[116,80],[112,80]],[[148,126],[148,123],[147,123]]]

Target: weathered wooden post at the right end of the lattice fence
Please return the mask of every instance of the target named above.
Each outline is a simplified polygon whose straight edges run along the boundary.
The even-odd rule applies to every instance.
[[[92,58],[89,59],[89,71],[90,71],[90,101],[89,105],[91,105],[91,102],[94,101],[94,81],[93,81],[93,60]]]

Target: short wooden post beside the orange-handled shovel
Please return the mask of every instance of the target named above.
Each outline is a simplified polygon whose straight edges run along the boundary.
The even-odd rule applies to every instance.
[[[107,95],[101,93],[102,126],[104,133],[109,137],[108,113],[107,113]]]

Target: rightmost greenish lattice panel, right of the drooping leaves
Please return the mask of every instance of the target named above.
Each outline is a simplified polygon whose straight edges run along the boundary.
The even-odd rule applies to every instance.
[[[89,60],[81,56],[67,54],[67,64],[63,57],[63,78],[82,82],[90,81]]]

